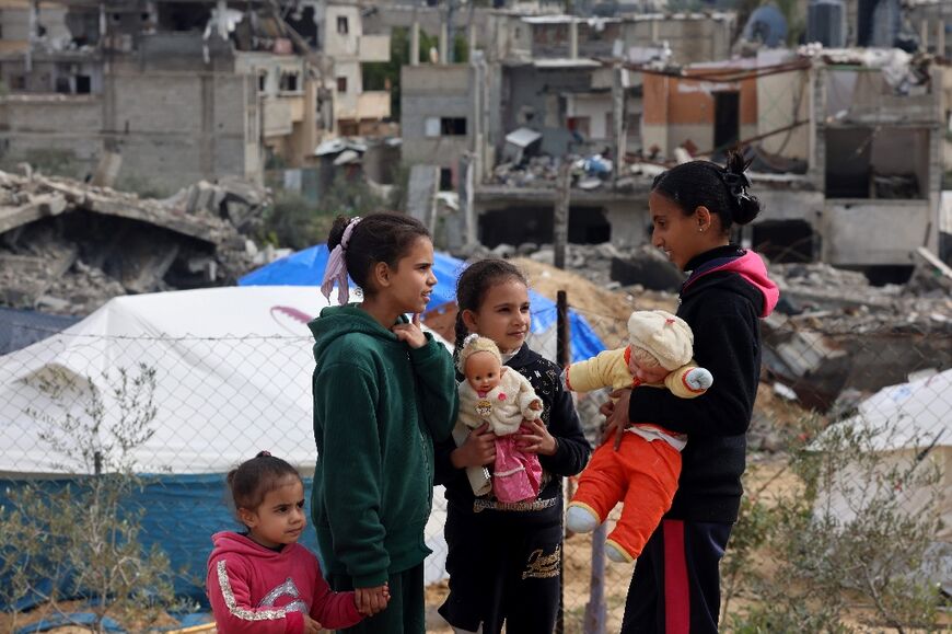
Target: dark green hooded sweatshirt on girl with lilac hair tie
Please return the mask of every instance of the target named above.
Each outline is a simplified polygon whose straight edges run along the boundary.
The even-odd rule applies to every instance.
[[[453,359],[430,334],[410,348],[357,304],[326,308],[309,326],[321,554],[356,588],[381,586],[430,553],[433,438],[456,419]]]

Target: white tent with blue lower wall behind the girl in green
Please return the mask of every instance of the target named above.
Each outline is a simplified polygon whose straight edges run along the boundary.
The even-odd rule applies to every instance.
[[[57,485],[81,473],[44,440],[42,415],[84,416],[95,390],[107,424],[115,420],[111,389],[118,372],[135,376],[143,364],[155,371],[158,407],[154,435],[131,454],[138,472],[154,474],[136,500],[146,509],[143,542],[159,543],[186,577],[204,579],[211,534],[236,528],[224,473],[262,450],[305,475],[313,471],[306,323],[325,306],[313,287],[118,297],[61,333],[0,357],[0,504],[23,481],[51,474]],[[434,521],[442,526],[442,517]],[[439,531],[430,546],[444,553],[441,540]],[[313,530],[302,541],[316,550]],[[442,566],[428,566],[428,580],[442,575]],[[205,601],[204,589],[185,577],[176,589]]]

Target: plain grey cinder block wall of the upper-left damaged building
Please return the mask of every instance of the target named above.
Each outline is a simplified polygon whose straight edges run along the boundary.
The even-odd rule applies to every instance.
[[[40,160],[82,176],[112,149],[123,155],[117,186],[164,194],[201,178],[257,178],[259,162],[246,157],[256,147],[247,142],[255,89],[253,78],[232,73],[150,72],[111,76],[91,97],[13,96],[3,106],[0,164]]]

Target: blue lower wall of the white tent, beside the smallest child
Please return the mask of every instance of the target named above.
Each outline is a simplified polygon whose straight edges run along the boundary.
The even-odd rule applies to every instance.
[[[208,555],[211,553],[211,535],[223,530],[242,530],[227,503],[225,476],[211,474],[144,477],[149,484],[132,500],[132,504],[144,509],[140,541],[146,549],[158,544],[169,556],[175,573],[175,593],[208,609],[205,576]],[[9,504],[8,488],[22,486],[23,482],[0,479],[0,505]],[[31,482],[50,492],[70,483],[67,479]],[[311,479],[304,480],[304,489],[311,489]],[[317,537],[310,521],[301,537],[301,543],[313,552],[318,552]],[[3,583],[4,579],[0,578],[0,584]],[[72,589],[67,580],[60,580],[59,584],[61,591]],[[37,602],[27,598],[18,602],[16,607],[19,610],[26,610]],[[9,609],[9,606],[0,602],[0,611]]]

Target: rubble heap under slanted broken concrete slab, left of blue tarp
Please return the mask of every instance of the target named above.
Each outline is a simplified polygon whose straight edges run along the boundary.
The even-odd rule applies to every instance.
[[[231,284],[267,192],[205,181],[165,200],[0,172],[0,304],[84,315],[119,295]]]

